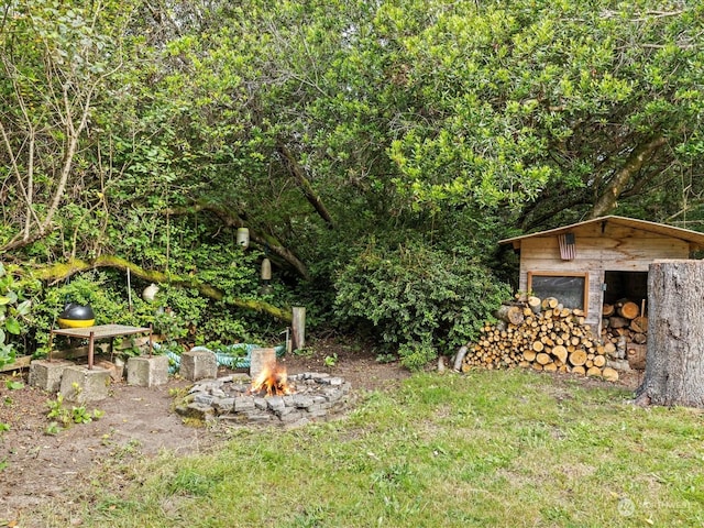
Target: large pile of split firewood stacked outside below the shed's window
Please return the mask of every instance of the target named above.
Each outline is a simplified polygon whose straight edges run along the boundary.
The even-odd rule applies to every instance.
[[[462,371],[522,366],[618,380],[606,366],[612,344],[594,337],[583,310],[565,308],[554,297],[518,295],[496,317],[499,321],[485,324],[477,342],[466,346]]]

